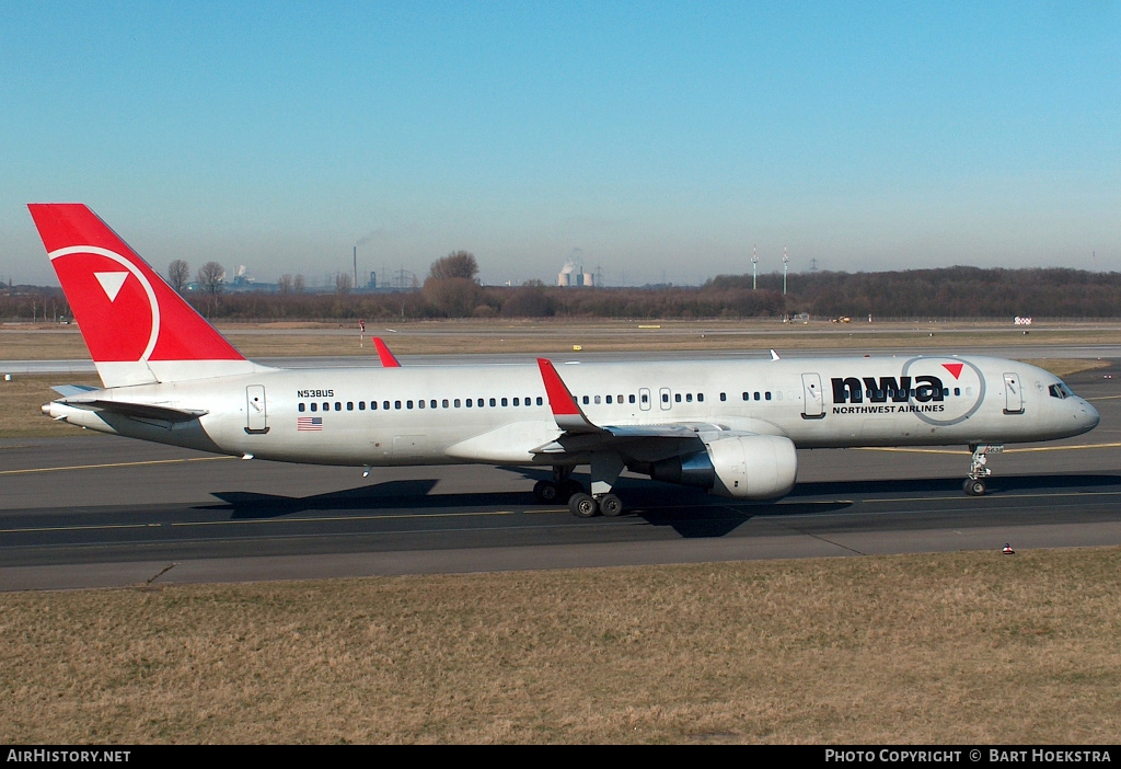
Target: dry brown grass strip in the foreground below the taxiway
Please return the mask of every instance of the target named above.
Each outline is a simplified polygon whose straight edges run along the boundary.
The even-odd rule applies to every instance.
[[[1121,549],[0,594],[0,741],[1111,743]]]

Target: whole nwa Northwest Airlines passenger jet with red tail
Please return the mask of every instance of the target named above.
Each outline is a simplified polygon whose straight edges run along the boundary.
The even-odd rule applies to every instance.
[[[550,467],[534,494],[619,516],[624,470],[738,500],[791,491],[798,448],[966,445],[980,495],[1004,444],[1080,435],[1055,374],[973,355],[279,369],[247,360],[83,204],[29,204],[102,387],[43,406],[86,429],[204,452],[371,469]],[[590,488],[573,478],[589,466]]]

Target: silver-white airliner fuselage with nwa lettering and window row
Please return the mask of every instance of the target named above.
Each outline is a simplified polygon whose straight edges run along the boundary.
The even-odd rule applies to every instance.
[[[1022,443],[1078,435],[1096,410],[1051,373],[980,356],[572,363],[600,426],[705,425],[799,448]],[[271,369],[111,388],[105,400],[205,411],[185,423],[50,404],[92,429],[224,454],[340,465],[550,464],[562,433],[537,365]]]

